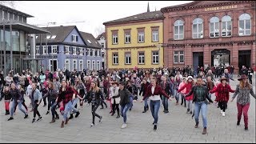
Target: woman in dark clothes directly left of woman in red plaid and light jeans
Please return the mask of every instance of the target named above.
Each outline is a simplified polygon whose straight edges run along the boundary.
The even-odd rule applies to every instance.
[[[43,96],[43,98],[48,98],[48,110],[46,114],[50,113],[51,108],[52,120],[50,123],[53,123],[55,122],[55,115],[56,119],[59,118],[58,113],[56,111],[56,105],[54,105],[54,102],[56,102],[56,99],[58,97],[58,91],[55,89],[53,82],[48,82],[48,84],[48,92]]]

